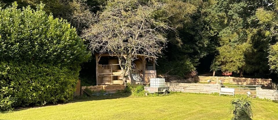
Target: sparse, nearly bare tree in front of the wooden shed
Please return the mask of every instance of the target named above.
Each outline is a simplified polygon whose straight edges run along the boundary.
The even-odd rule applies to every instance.
[[[83,31],[83,38],[90,41],[92,51],[116,54],[124,77],[130,74],[137,54],[159,56],[165,47],[165,32],[173,28],[156,19],[157,14],[167,12],[164,7],[158,1],[110,1],[98,22]]]

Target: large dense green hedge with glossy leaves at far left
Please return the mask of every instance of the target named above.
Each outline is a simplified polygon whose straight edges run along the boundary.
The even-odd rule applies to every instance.
[[[72,99],[91,55],[75,28],[42,9],[0,11],[0,110]]]

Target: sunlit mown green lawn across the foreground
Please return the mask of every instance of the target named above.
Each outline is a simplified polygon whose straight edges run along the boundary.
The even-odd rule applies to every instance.
[[[116,97],[116,96],[114,96]],[[186,119],[230,120],[233,97],[174,93],[162,97],[89,98],[0,113],[4,120]],[[252,100],[253,120],[277,120],[278,103]]]

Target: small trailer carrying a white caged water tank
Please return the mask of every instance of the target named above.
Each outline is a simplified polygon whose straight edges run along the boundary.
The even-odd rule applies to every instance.
[[[164,95],[167,95],[169,92],[169,87],[165,86],[164,78],[151,78],[150,86],[145,86],[144,88],[148,93],[164,93]]]

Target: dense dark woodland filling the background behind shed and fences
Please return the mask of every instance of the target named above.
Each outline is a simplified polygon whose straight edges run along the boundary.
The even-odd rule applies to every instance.
[[[2,9],[7,8],[14,1],[17,0],[2,0],[0,6]],[[67,20],[76,28],[78,35],[86,40],[86,44],[90,43],[88,29],[98,31],[96,24],[104,24],[107,19],[102,17],[109,14],[109,10],[116,10],[115,6],[122,5],[123,10],[129,13],[130,10],[139,11],[136,5],[142,5],[144,8],[144,5],[163,4],[163,9],[159,7],[157,10],[151,10],[150,17],[150,21],[160,21],[160,25],[168,26],[168,28],[160,27],[162,30],[159,31],[164,38],[167,38],[167,44],[165,49],[157,54],[160,56],[157,60],[158,73],[190,77],[197,72],[212,74],[213,71],[217,71],[219,74],[221,71],[230,71],[240,77],[277,76],[278,2],[276,0],[128,0],[127,2],[18,0],[17,4],[18,8],[30,5],[33,9],[36,9],[39,3],[45,4],[43,10],[47,14]],[[150,9],[142,9],[141,12],[144,10]],[[136,17],[129,19],[136,21]],[[87,84],[94,84],[94,59],[92,57],[89,62],[83,63],[79,75],[81,79],[87,81]]]

